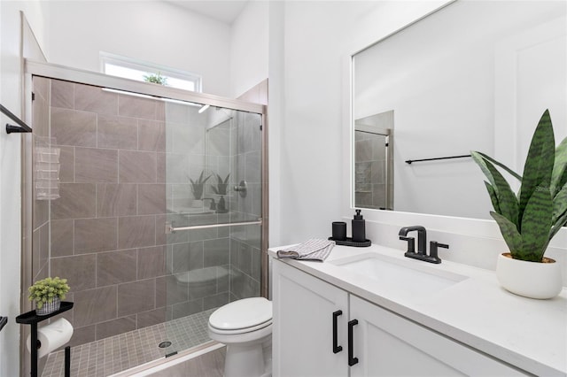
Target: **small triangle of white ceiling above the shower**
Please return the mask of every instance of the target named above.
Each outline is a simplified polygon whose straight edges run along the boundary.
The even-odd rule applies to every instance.
[[[167,3],[175,4],[190,12],[219,20],[232,25],[238,15],[245,8],[248,0],[166,0]]]

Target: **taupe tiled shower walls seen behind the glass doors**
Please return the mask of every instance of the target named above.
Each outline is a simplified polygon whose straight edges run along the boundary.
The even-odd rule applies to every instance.
[[[61,169],[60,197],[34,203],[33,276],[68,279],[71,345],[260,294],[259,226],[165,234],[170,220],[260,217],[259,115],[233,112],[207,145],[213,112],[67,81],[34,86],[34,137],[52,138]],[[229,213],[189,209],[188,178],[203,169],[231,173],[229,187],[246,180],[247,196],[229,192]]]

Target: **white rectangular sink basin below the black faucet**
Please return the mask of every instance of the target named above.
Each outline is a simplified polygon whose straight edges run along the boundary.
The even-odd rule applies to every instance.
[[[330,263],[384,285],[392,295],[404,298],[423,297],[468,279],[457,273],[431,268],[427,262],[400,260],[377,253],[341,258]]]

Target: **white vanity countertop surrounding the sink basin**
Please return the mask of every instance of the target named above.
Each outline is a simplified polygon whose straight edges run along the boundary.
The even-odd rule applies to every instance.
[[[270,249],[270,256],[276,258],[279,249]],[[404,296],[392,285],[377,284],[334,264],[368,253],[425,272],[456,273],[468,279],[437,292],[423,287],[423,295]],[[322,263],[279,260],[526,372],[567,375],[567,289],[551,300],[516,296],[501,288],[493,271],[446,260],[434,265],[379,245],[335,246]]]

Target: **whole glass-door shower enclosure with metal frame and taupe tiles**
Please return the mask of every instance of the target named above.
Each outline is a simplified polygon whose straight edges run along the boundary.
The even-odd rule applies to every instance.
[[[266,296],[263,105],[29,61],[27,73],[23,288],[68,280],[72,373],[210,342],[215,308]]]

